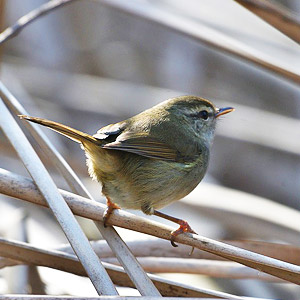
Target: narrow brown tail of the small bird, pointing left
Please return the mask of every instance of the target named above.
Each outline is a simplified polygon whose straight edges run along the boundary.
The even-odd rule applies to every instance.
[[[52,130],[68,137],[69,139],[77,142],[77,143],[84,143],[85,141],[92,142],[94,144],[99,143],[99,140],[94,138],[93,136],[81,132],[79,130],[76,130],[74,128],[71,128],[69,126],[54,122],[54,121],[49,121],[46,119],[42,118],[36,118],[36,117],[30,117],[30,116],[25,116],[25,115],[19,115],[20,119],[25,119],[27,121],[37,123],[46,127],[51,128]]]

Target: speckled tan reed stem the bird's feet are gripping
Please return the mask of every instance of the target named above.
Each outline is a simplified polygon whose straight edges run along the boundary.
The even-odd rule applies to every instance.
[[[0,192],[38,205],[47,205],[30,179],[14,175],[5,170],[0,170]],[[105,205],[63,190],[60,190],[60,192],[75,214],[96,221],[103,220],[103,213],[106,209]],[[170,226],[135,216],[123,210],[115,210],[108,223],[168,240],[171,238],[171,232],[174,230]],[[190,245],[278,278],[300,284],[299,266],[196,234],[180,234],[176,237],[176,242]]]

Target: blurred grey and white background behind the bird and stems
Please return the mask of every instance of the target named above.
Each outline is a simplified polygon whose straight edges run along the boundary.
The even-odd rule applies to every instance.
[[[2,1],[2,28],[45,2]],[[300,71],[299,45],[234,1],[144,0],[133,5],[136,2],[141,9],[163,12],[162,19],[171,15],[188,19],[194,22],[195,30],[197,26],[208,34],[212,30],[250,52]],[[299,1],[273,2],[292,10],[300,21]],[[299,82],[102,1],[77,1],[32,23],[2,46],[0,72],[1,80],[31,115],[88,133],[179,95],[193,94],[220,107],[235,107],[236,111],[218,124],[203,183],[190,197],[163,211],[188,219],[199,234],[215,239],[250,238],[300,245]],[[88,178],[80,147],[47,129],[45,133],[95,198],[104,201],[100,186]],[[0,134],[0,167],[28,176]],[[42,158],[58,186],[67,189],[51,162]],[[56,226],[44,210],[0,197],[2,235],[8,235],[7,222],[14,224],[26,216],[30,242],[53,247],[65,241],[59,228],[49,233],[44,221],[40,224],[47,220],[49,226]],[[277,204],[285,207],[275,213],[272,205],[281,207]],[[1,215],[7,215],[8,210],[18,217],[8,221]],[[273,218],[269,225],[280,220],[284,229],[278,233],[257,221],[264,217]],[[90,238],[99,238],[93,225],[84,226]],[[128,231],[123,234],[125,239],[140,238]],[[298,299],[300,292],[292,284],[198,279],[201,286],[252,297]],[[53,287],[53,282],[52,289],[51,283],[48,285],[52,293],[70,292],[66,285]],[[0,292],[16,291],[3,280]]]

